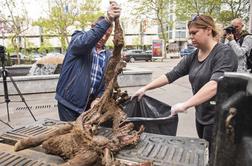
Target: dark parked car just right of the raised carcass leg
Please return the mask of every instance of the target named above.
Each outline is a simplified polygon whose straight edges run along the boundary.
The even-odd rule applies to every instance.
[[[127,50],[123,52],[122,58],[126,62],[135,62],[137,60],[151,61],[152,52],[146,52],[141,49]]]

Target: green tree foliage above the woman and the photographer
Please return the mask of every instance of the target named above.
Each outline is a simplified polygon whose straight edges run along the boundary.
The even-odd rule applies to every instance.
[[[174,0],[178,20],[190,20],[194,15],[207,14],[227,25],[234,18],[248,21],[249,0]]]

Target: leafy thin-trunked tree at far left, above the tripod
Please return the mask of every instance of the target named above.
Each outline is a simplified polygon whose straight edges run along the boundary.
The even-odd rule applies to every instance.
[[[5,11],[5,15],[1,17],[1,20],[4,20],[5,23],[8,24],[7,27],[11,36],[11,44],[16,54],[19,55],[21,48],[21,35],[29,29],[27,11],[22,2],[21,4],[18,4],[15,0],[5,0],[2,3],[2,11]],[[20,64],[19,56],[17,56],[17,63]]]

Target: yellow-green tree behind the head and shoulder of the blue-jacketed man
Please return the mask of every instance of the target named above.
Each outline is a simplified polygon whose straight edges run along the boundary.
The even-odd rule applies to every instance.
[[[44,33],[58,36],[61,43],[61,51],[66,50],[69,44],[69,29],[81,27],[82,29],[101,12],[100,0],[54,0],[54,6],[49,9],[48,18],[40,18],[34,22],[43,28]]]

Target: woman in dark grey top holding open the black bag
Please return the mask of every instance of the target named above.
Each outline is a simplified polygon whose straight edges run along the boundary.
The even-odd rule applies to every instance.
[[[233,50],[216,40],[215,23],[210,16],[198,15],[188,22],[192,44],[197,50],[185,56],[172,71],[153,80],[140,88],[132,97],[140,99],[147,90],[170,84],[178,78],[189,75],[193,96],[185,102],[175,104],[171,114],[185,112],[190,107],[196,109],[196,129],[200,138],[206,139],[211,145],[214,124],[214,100],[217,81],[224,72],[237,70],[237,57]]]

